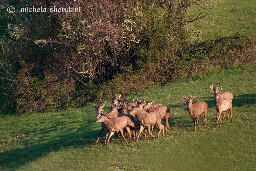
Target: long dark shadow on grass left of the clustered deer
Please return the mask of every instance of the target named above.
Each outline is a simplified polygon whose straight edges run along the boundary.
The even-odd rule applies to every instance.
[[[76,131],[71,127],[67,128],[68,124],[72,122],[64,122],[56,123],[57,125],[50,126],[43,130],[41,129],[39,133],[27,133],[26,137],[19,139],[19,143],[24,146],[23,148],[10,148],[0,154],[0,167],[3,170],[18,170],[20,167],[42,156],[46,156],[52,151],[58,151],[60,148],[68,148],[71,146],[75,148],[95,144],[95,140],[100,133],[101,125],[99,123],[99,130],[94,131],[90,128],[93,121],[94,120],[89,119],[86,122],[83,121],[79,123],[81,127],[76,127]],[[61,132],[60,129],[63,132]],[[38,132],[38,129],[35,128],[34,132]],[[101,136],[101,139],[104,138],[105,132],[103,132]]]

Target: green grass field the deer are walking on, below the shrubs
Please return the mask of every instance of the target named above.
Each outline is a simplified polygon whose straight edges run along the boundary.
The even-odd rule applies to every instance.
[[[0,170],[255,170],[255,78],[256,66],[238,66],[134,95],[170,107],[170,130],[158,140],[141,137],[125,144],[117,139],[105,147],[103,133],[95,144],[101,126],[92,106],[0,116]],[[217,129],[212,84],[234,94],[234,123],[225,119]],[[182,95],[196,95],[196,101],[208,104],[206,130],[201,117],[201,128],[193,131]]]

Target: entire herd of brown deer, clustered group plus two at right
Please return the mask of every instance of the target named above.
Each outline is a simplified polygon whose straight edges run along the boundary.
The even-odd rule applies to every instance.
[[[218,88],[220,87],[220,91],[218,92]],[[216,126],[218,125],[218,121],[224,123],[224,117],[226,114],[226,110],[229,110],[229,114],[231,116],[231,122],[233,123],[232,118],[232,99],[233,94],[230,92],[222,93],[222,86],[210,86],[214,94],[214,103],[216,106],[217,116],[216,116]],[[162,131],[162,136],[164,136],[164,125],[161,124],[161,120],[164,119],[164,124],[166,125],[165,133],[169,128],[169,114],[170,109],[169,107],[157,104],[152,105],[154,99],[152,101],[146,101],[146,98],[143,98],[142,101],[138,101],[138,98],[133,99],[133,103],[126,104],[126,99],[121,98],[121,94],[111,96],[112,103],[115,104],[107,104],[108,107],[111,108],[110,112],[104,112],[103,107],[106,104],[106,101],[99,106],[94,105],[97,110],[97,120],[96,122],[101,122],[101,132],[98,136],[95,143],[98,142],[102,132],[106,131],[106,138],[105,138],[105,145],[108,145],[110,138],[113,136],[114,133],[117,135],[120,133],[122,138],[125,140],[126,143],[130,143],[130,139],[133,136],[135,142],[138,141],[140,134],[143,132],[144,128],[146,127],[148,130],[145,129],[145,136],[146,138],[147,132],[150,134],[151,137],[153,136],[152,131],[154,125],[158,128],[159,132],[157,135],[157,139]],[[186,96],[182,96],[182,100],[187,103],[187,111],[193,119],[194,122],[194,130],[196,131],[196,125],[198,128],[198,120],[201,115],[204,115],[204,129],[206,129],[206,116],[207,116],[207,103],[204,101],[197,101],[196,103],[192,104],[194,101],[195,96],[191,96],[190,99],[187,99]],[[134,103],[135,101],[135,103]],[[220,115],[223,115],[222,120],[220,120]],[[137,136],[137,127],[140,127],[139,134]],[[126,129],[127,133],[129,134],[129,141],[124,138],[123,130]],[[113,138],[113,140],[115,137]]]

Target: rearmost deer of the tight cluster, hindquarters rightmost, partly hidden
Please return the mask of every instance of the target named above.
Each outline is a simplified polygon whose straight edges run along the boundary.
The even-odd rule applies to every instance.
[[[147,101],[146,104],[143,106],[143,108],[148,109],[148,112],[159,112],[162,115],[162,118],[165,120],[166,123],[166,129],[165,129],[165,133],[167,132],[167,129],[170,130],[169,128],[169,114],[170,114],[170,109],[169,107],[162,105],[162,104],[158,104],[153,106],[152,103],[154,102],[155,99],[153,99],[152,101]]]

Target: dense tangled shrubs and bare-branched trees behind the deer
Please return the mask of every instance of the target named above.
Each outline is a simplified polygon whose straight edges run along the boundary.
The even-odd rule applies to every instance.
[[[198,45],[190,41],[188,23],[206,16],[214,1],[172,2],[13,0],[17,9],[74,6],[81,12],[0,13],[5,28],[0,34],[1,110],[69,109],[216,67],[255,62],[255,38],[235,34]],[[193,6],[199,15],[190,18]]]

